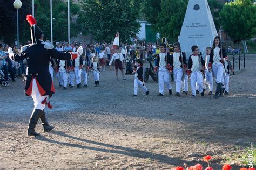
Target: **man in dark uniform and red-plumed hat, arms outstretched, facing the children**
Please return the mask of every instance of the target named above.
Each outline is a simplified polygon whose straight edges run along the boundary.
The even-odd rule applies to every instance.
[[[44,108],[47,104],[51,108],[50,97],[55,93],[55,88],[49,72],[50,58],[59,60],[71,60],[77,58],[79,53],[66,53],[57,51],[51,43],[43,41],[43,32],[36,25],[35,18],[32,15],[26,16],[30,23],[32,44],[25,45],[21,53],[14,54],[9,48],[9,57],[14,61],[21,61],[26,58],[28,67],[25,76],[25,95],[32,96],[34,109],[29,121],[28,136],[39,136],[35,131],[38,119],[42,121],[45,132],[51,131],[54,127],[48,124],[45,117]]]

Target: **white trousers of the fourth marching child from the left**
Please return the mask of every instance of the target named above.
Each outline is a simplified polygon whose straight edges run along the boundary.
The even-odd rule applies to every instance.
[[[198,91],[201,93],[203,91],[203,75],[199,70],[192,72],[190,76],[191,90],[192,95],[194,96],[196,96],[196,83],[198,86]]]

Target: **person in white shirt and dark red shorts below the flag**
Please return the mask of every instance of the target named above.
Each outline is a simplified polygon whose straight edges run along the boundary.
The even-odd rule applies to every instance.
[[[117,80],[119,80],[118,79],[118,69],[121,70],[123,80],[126,80],[125,77],[124,77],[124,68],[123,68],[123,65],[122,65],[123,60],[124,60],[124,56],[121,53],[121,48],[119,49],[119,53],[118,53],[118,49],[116,49],[116,53],[113,54],[113,56],[112,56],[112,58],[109,62],[109,65],[111,66],[112,62],[114,61],[114,69],[116,70]]]

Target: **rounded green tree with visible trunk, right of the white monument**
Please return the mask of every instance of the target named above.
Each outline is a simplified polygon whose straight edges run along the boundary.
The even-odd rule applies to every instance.
[[[242,41],[244,51],[248,52],[245,40],[256,33],[256,6],[250,0],[226,3],[220,12],[220,22],[233,41]]]

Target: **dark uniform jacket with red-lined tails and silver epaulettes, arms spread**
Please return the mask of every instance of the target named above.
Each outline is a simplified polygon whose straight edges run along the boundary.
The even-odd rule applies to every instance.
[[[32,93],[32,80],[36,79],[38,90],[41,96],[55,93],[55,88],[49,72],[50,58],[59,60],[70,60],[71,54],[57,51],[51,43],[38,41],[37,44],[23,46],[21,53],[12,56],[12,60],[21,61],[26,58],[25,95]]]

